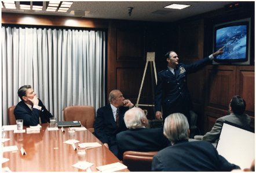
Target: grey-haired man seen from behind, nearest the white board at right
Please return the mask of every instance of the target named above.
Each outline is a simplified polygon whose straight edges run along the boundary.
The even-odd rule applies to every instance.
[[[188,142],[188,120],[181,113],[167,116],[163,131],[171,146],[153,157],[152,171],[231,171],[240,168],[219,155],[210,142]]]

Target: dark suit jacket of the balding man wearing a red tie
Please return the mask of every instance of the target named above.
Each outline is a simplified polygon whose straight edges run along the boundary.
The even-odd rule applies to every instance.
[[[127,110],[129,107],[119,108],[119,127],[117,127],[110,104],[98,108],[94,122],[95,136],[103,143],[116,145],[116,134],[127,129],[123,121],[123,116]]]

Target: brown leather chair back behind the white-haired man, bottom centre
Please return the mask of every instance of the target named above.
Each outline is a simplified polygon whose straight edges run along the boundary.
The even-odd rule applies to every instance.
[[[130,171],[151,171],[153,156],[158,153],[154,152],[136,152],[126,151],[123,153],[123,164]]]

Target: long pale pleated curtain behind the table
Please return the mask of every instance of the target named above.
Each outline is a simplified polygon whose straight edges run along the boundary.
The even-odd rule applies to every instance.
[[[104,31],[2,27],[2,125],[20,86],[32,85],[57,119],[67,106],[105,103]]]

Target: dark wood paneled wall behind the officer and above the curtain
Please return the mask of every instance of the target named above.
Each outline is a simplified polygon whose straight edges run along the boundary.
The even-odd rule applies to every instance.
[[[210,55],[210,21],[225,18],[226,15],[217,13],[209,14],[210,19],[203,14],[192,20],[177,21],[174,24],[2,13],[2,23],[106,29],[107,95],[112,89],[120,89],[127,99],[136,103],[147,52],[155,52],[157,72],[166,68],[167,63],[163,55],[170,50],[176,51],[180,61],[184,63]],[[232,16],[232,13],[228,13],[228,16]],[[247,14],[242,16],[248,17]],[[30,20],[25,20],[26,17],[30,17]],[[254,34],[252,36],[254,37]],[[252,41],[251,45],[254,46],[254,39]],[[251,58],[254,59],[254,50],[251,52]],[[152,104],[152,85],[155,84],[151,79],[151,74],[147,72],[140,103]],[[188,87],[193,106],[199,115],[198,126],[202,133],[210,130],[217,118],[227,114],[229,101],[236,94],[246,100],[246,112],[251,116],[251,126],[254,127],[254,66],[209,64],[202,70],[189,74]],[[146,108],[149,110],[149,119],[152,119],[153,108]]]

